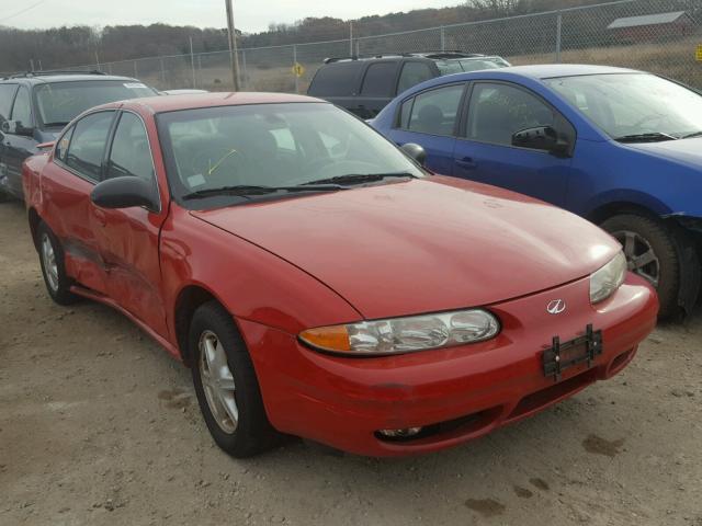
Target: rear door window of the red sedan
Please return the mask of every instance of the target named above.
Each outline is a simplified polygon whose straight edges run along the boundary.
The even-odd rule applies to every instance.
[[[100,180],[105,142],[114,112],[90,114],[76,123],[68,145],[66,164],[93,181]]]

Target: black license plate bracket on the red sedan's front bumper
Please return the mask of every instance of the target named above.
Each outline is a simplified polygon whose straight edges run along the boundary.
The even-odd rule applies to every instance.
[[[563,371],[578,364],[586,363],[588,368],[592,362],[602,354],[602,331],[592,329],[589,323],[585,334],[567,342],[562,342],[559,336],[553,336],[551,347],[542,354],[542,365],[545,377],[561,380]]]

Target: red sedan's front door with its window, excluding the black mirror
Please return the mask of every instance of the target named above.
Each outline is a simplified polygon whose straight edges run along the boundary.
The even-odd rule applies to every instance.
[[[155,139],[156,140],[156,139]],[[122,112],[107,151],[104,178],[140,178],[158,186],[150,142],[144,121]],[[107,295],[122,308],[167,335],[166,310],[161,296],[158,240],[167,207],[94,210],[100,259],[109,279]]]

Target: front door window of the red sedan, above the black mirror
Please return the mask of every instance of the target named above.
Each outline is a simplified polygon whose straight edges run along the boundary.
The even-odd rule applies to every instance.
[[[112,141],[107,161],[107,179],[131,175],[155,181],[154,160],[146,128],[139,117],[124,112]]]

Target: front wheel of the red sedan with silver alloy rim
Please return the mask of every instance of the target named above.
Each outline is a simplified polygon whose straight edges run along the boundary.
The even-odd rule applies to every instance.
[[[189,346],[195,393],[215,443],[235,458],[270,449],[279,435],[231,315],[216,301],[203,304],[193,315]]]

